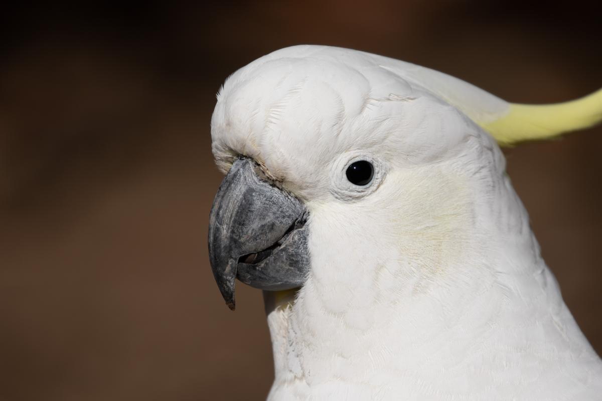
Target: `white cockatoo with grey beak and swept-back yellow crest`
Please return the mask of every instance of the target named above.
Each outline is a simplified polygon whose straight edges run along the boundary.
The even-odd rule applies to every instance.
[[[602,90],[507,103],[444,73],[294,46],[230,76],[209,259],[264,290],[268,400],[602,400],[499,145],[602,119]]]

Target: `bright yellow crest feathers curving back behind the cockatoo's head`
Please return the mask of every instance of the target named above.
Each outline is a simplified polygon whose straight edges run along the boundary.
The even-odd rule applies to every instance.
[[[602,89],[571,102],[554,105],[510,104],[503,117],[477,123],[500,145],[550,139],[564,132],[591,127],[602,121]]]

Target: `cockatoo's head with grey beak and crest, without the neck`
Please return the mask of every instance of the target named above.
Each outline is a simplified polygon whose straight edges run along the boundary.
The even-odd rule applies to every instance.
[[[234,309],[237,278],[286,290],[311,277],[308,290],[327,283],[321,298],[335,312],[356,290],[444,283],[435,277],[478,257],[486,227],[523,224],[508,211],[521,206],[510,204],[496,141],[588,126],[600,118],[591,104],[602,96],[592,96],[574,118],[574,104],[512,105],[349,49],[295,46],[253,61],[225,82],[211,120],[226,177],[209,258],[226,303]],[[554,107],[565,113],[555,123]]]

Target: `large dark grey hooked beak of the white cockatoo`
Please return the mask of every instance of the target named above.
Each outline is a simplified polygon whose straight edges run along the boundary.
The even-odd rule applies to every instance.
[[[234,162],[209,215],[209,261],[234,310],[235,279],[262,290],[301,286],[309,271],[305,206],[255,173],[252,159]]]

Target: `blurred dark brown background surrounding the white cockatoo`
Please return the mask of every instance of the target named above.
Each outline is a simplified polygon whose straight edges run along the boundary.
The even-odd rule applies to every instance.
[[[512,102],[602,86],[572,1],[29,5],[0,14],[0,400],[261,400],[261,293],[208,265],[215,93],[292,44],[432,67]],[[171,4],[171,5],[169,5]],[[602,351],[602,128],[506,152],[566,303]]]

